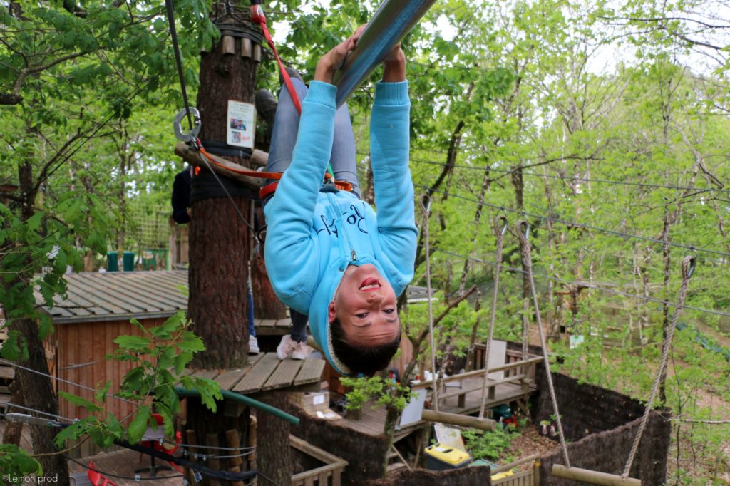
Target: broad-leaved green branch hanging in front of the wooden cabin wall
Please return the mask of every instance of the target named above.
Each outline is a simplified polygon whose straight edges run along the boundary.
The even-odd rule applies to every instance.
[[[183,374],[193,354],[205,349],[202,340],[188,331],[191,323],[185,314],[177,312],[153,328],[145,328],[134,319],[131,323],[137,325],[141,333],[119,336],[115,339],[119,349],[114,355],[107,356],[107,359],[131,361],[136,365],[124,377],[117,394],[139,405],[126,431],[121,423],[126,419],[118,420],[104,407],[111,382],[96,390],[93,401],[60,392],[62,398],[85,409],[89,415],[58,433],[55,441],[59,446],[69,439],[78,439],[84,435],[103,447],[109,447],[115,440],[122,439],[137,443],[147,427],[157,427],[153,413],[161,415],[166,435],[172,436],[174,414],[180,412],[180,398],[174,390],[178,383],[182,387],[198,390],[201,401],[215,412],[215,401],[222,398],[218,383],[212,379]]]

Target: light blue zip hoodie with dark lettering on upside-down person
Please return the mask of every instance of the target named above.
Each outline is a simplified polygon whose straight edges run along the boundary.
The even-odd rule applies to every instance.
[[[408,169],[408,82],[379,82],[370,118],[377,215],[353,193],[320,190],[332,150],[337,88],[312,81],[301,104],[291,166],[266,204],[266,271],[274,292],[309,315],[329,363],[351,374],[332,351],[327,307],[349,265],[372,263],[396,296],[413,278],[416,240]]]

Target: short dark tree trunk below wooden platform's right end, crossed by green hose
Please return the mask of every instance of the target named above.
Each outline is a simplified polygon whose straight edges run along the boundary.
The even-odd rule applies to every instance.
[[[277,409],[287,411],[290,409],[287,394],[283,392],[267,393],[262,399],[266,404],[275,406]],[[266,479],[259,480],[259,484],[272,483],[275,485],[291,484],[291,447],[289,445],[289,433],[291,425],[272,414],[259,413],[258,436],[258,471]]]

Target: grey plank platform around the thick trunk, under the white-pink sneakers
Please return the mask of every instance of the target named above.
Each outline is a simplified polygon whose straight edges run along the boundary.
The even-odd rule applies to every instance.
[[[189,376],[209,378],[221,389],[242,395],[265,391],[318,391],[324,370],[324,360],[279,360],[275,352],[251,356],[245,368],[197,369]]]

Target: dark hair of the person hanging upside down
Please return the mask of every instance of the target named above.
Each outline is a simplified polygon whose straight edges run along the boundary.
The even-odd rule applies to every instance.
[[[347,342],[347,336],[342,330],[339,319],[333,320],[329,328],[332,350],[337,359],[342,361],[353,374],[362,373],[366,377],[372,377],[378,371],[387,368],[401,344],[401,333],[398,333],[398,337],[392,342],[380,346],[353,346]]]

